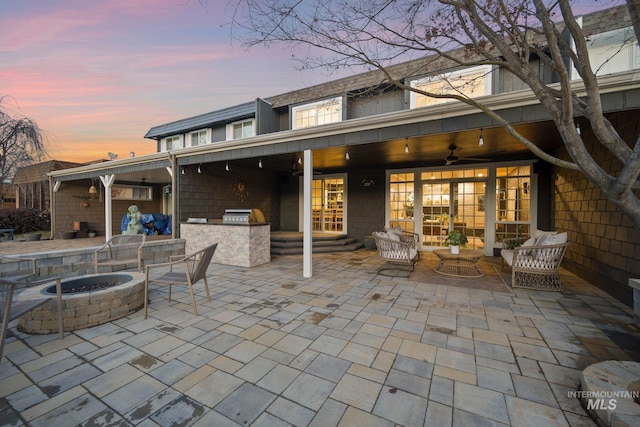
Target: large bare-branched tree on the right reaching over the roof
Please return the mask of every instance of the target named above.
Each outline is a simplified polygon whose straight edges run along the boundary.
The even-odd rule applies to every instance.
[[[584,6],[587,2],[574,2]],[[624,141],[604,115],[597,69],[569,0],[237,0],[234,25],[247,46],[284,42],[306,46],[298,58],[305,67],[364,67],[381,84],[435,98],[454,98],[483,111],[541,159],[579,170],[640,230],[640,139]],[[600,3],[597,3],[600,4]],[[628,9],[628,10],[626,10]],[[627,0],[640,40],[640,0]],[[566,37],[569,35],[570,37]],[[409,61],[424,58],[423,61]],[[533,63],[531,58],[537,58]],[[570,61],[569,61],[570,60]],[[406,61],[406,62],[405,62]],[[405,78],[425,69],[491,65],[512,73],[532,89],[562,137],[569,159],[541,150],[500,114],[465,96],[451,83],[451,93],[412,87]],[[538,66],[553,72],[543,80]],[[572,80],[572,64],[581,80]],[[411,73],[414,73],[413,75]],[[424,73],[424,71],[422,72]],[[579,95],[578,90],[583,94]],[[605,170],[585,146],[575,119],[586,119],[597,141],[620,162],[615,174]]]

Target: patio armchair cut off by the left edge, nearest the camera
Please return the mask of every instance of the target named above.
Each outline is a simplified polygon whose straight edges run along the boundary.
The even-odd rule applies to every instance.
[[[34,258],[13,258],[0,256],[0,263],[8,266],[10,270],[0,273],[0,360],[4,351],[4,340],[7,336],[9,323],[18,319],[23,314],[34,310],[53,298],[58,305],[58,334],[64,338],[64,325],[62,319],[62,283],[59,277],[37,278],[36,260]],[[24,293],[28,288],[54,282],[56,295],[47,296],[42,293],[28,295]]]

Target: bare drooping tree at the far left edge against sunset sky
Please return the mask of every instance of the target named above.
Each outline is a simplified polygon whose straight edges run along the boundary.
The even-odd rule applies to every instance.
[[[19,167],[47,154],[42,130],[27,117],[9,114],[2,106],[4,100],[0,97],[0,184],[12,179]]]

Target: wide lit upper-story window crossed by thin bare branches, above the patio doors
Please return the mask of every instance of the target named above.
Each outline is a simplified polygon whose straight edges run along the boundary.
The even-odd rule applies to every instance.
[[[412,80],[411,87],[440,95],[463,95],[476,98],[491,94],[491,66],[466,68],[452,73],[423,77]],[[454,101],[452,98],[431,98],[416,92],[410,94],[411,108],[442,104]]]

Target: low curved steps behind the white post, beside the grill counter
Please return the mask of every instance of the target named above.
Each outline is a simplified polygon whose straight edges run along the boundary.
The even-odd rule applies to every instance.
[[[271,253],[273,255],[302,254],[302,233],[275,231],[271,233]],[[313,252],[347,252],[364,247],[356,239],[344,234],[313,233]]]

